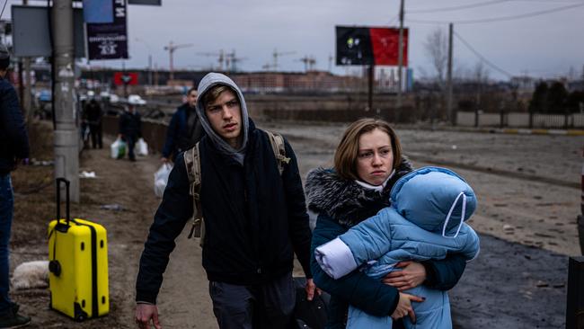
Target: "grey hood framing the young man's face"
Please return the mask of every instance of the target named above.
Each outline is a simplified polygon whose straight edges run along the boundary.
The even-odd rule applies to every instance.
[[[234,149],[231,147],[227,142],[221,138],[208,122],[207,115],[205,114],[205,106],[203,104],[203,99],[205,98],[205,93],[207,93],[212,87],[223,84],[231,88],[234,93],[237,95],[239,99],[239,104],[242,109],[242,133],[243,133],[243,141],[242,146],[239,149]],[[200,118],[200,123],[205,132],[207,133],[208,138],[211,138],[211,141],[215,146],[221,150],[221,152],[225,153],[229,156],[235,156],[235,158],[243,164],[243,156],[245,154],[245,147],[247,146],[247,138],[248,138],[248,130],[249,130],[249,118],[247,114],[247,106],[245,105],[245,99],[243,99],[243,93],[231,80],[228,76],[222,75],[220,73],[211,72],[208,73],[207,76],[203,76],[199,83],[199,98],[197,99],[197,113]],[[240,161],[241,160],[241,161]]]

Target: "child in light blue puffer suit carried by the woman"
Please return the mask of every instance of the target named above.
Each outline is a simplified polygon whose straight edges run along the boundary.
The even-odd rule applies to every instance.
[[[362,266],[381,280],[401,261],[443,259],[462,253],[470,262],[479,253],[479,237],[464,221],[476,209],[473,189],[456,173],[424,167],[403,176],[390,193],[391,207],[382,209],[345,234],[314,251],[323,271],[338,279]],[[452,328],[446,291],[423,285],[404,291],[426,298],[412,304],[416,323],[404,318],[406,328]],[[370,316],[350,307],[347,328],[391,328],[390,316]]]

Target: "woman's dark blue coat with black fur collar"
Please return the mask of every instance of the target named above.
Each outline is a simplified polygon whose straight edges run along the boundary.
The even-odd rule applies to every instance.
[[[306,177],[305,191],[308,209],[317,213],[313,232],[311,271],[314,283],[332,295],[327,328],[344,328],[348,305],[358,307],[373,316],[394,313],[399,301],[399,292],[361,271],[353,271],[338,280],[329,277],[314,260],[314,248],[345,233],[377,211],[389,206],[389,192],[394,183],[411,172],[411,164],[403,158],[394,176],[385,185],[383,192],[367,190],[357,182],[341,179],[332,170],[315,169]],[[465,271],[465,258],[448,255],[442,261],[422,262],[427,278],[423,283],[432,289],[452,289]],[[395,327],[401,322],[394,322]]]

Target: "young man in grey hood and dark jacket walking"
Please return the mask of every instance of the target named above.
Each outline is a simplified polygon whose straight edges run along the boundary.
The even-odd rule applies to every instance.
[[[289,161],[280,175],[268,134],[255,128],[243,93],[227,76],[203,77],[197,112],[205,129],[199,143],[202,262],[217,323],[221,329],[287,328],[296,296],[294,253],[307,278],[307,298],[315,290],[294,151],[285,141]],[[155,302],[169,253],[193,215],[184,155],[176,158],[140,258],[136,321],[141,328],[159,325]]]

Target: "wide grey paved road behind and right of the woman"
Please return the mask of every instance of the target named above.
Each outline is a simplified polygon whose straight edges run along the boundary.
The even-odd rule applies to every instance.
[[[342,125],[265,122],[291,141],[305,173],[330,166]],[[479,258],[450,293],[457,328],[561,328],[569,255],[580,253],[583,138],[397,129],[415,166],[462,174],[479,199]]]

